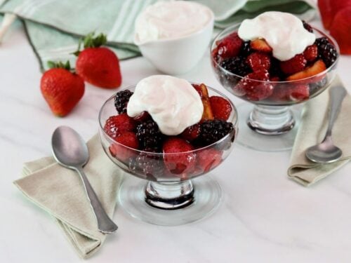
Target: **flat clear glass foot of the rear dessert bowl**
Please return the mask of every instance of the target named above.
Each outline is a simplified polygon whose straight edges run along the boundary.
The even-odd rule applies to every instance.
[[[288,151],[292,149],[293,142],[300,124],[300,105],[290,107],[295,119],[295,124],[291,130],[282,134],[264,135],[250,128],[247,124],[249,116],[253,111],[253,104],[240,104],[239,112],[239,134],[237,142],[244,147],[257,151]]]

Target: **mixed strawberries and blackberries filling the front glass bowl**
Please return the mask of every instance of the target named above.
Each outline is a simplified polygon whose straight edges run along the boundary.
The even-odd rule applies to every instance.
[[[105,133],[118,142],[110,144],[111,156],[148,180],[167,176],[186,180],[218,166],[223,152],[234,141],[234,126],[228,121],[232,106],[224,97],[209,96],[206,85],[192,86],[201,97],[204,112],[199,123],[176,136],[162,134],[147,112],[135,118],[128,116],[126,107],[133,92],[117,93],[114,106],[119,114],[110,116],[104,126]],[[218,141],[213,147],[206,147]]]

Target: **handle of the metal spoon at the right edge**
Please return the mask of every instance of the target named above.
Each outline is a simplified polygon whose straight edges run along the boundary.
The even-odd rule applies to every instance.
[[[331,136],[331,129],[338,117],[341,108],[341,102],[346,95],[346,90],[343,86],[333,86],[330,89],[330,106],[329,106],[329,121],[326,129],[326,137]]]

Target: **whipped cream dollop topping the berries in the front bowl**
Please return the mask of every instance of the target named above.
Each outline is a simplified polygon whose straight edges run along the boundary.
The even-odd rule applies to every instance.
[[[178,135],[198,123],[204,112],[199,93],[185,79],[154,75],[142,79],[131,95],[127,114],[130,117],[148,112],[165,135]]]

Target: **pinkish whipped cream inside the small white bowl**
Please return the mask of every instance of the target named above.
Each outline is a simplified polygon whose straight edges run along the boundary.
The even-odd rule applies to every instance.
[[[207,6],[192,1],[159,1],[135,20],[136,44],[159,39],[178,39],[199,32],[214,15]]]

